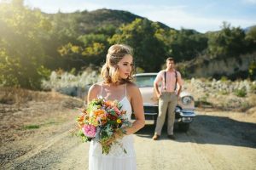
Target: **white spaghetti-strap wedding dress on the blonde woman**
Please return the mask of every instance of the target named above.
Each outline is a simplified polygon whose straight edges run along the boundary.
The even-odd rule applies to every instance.
[[[126,97],[126,84],[125,97],[120,100],[120,103],[122,110],[126,111],[126,118],[131,121],[131,103]],[[118,141],[119,144],[123,144],[123,148],[119,144],[113,144],[108,155],[102,154],[102,145],[97,143],[95,139],[90,141],[89,170],[136,170],[136,155],[132,135],[125,135]]]

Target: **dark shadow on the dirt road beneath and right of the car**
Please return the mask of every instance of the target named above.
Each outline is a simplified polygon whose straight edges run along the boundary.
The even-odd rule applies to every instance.
[[[143,138],[152,138],[154,124],[146,124],[136,134]],[[190,124],[187,133],[180,132],[175,128],[174,134],[178,142],[256,148],[256,123],[239,122],[225,116],[198,115]],[[163,127],[161,139],[167,139],[166,126]]]

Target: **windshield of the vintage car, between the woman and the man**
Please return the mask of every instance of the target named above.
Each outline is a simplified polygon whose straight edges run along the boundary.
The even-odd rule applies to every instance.
[[[135,82],[137,84],[137,87],[139,87],[139,88],[154,87],[155,77],[156,77],[156,75],[136,76]]]

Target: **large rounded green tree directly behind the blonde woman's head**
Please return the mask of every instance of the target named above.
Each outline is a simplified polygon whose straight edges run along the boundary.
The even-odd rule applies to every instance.
[[[125,43],[134,49],[134,61],[144,71],[159,71],[166,59],[166,45],[160,39],[160,26],[149,20],[136,19],[119,27],[109,43]]]

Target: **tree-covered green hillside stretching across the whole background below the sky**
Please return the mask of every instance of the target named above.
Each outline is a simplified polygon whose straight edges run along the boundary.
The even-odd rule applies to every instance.
[[[224,23],[221,31],[201,34],[177,31],[125,11],[44,14],[24,7],[23,0],[5,1],[0,3],[0,85],[37,89],[51,71],[74,75],[89,67],[98,69],[113,43],[134,48],[137,72],[159,71],[169,56],[177,62],[190,60],[191,65],[199,56],[211,62],[253,52],[256,27],[244,32]],[[247,71],[252,80],[255,65]],[[187,65],[178,70],[183,77],[191,72]]]

